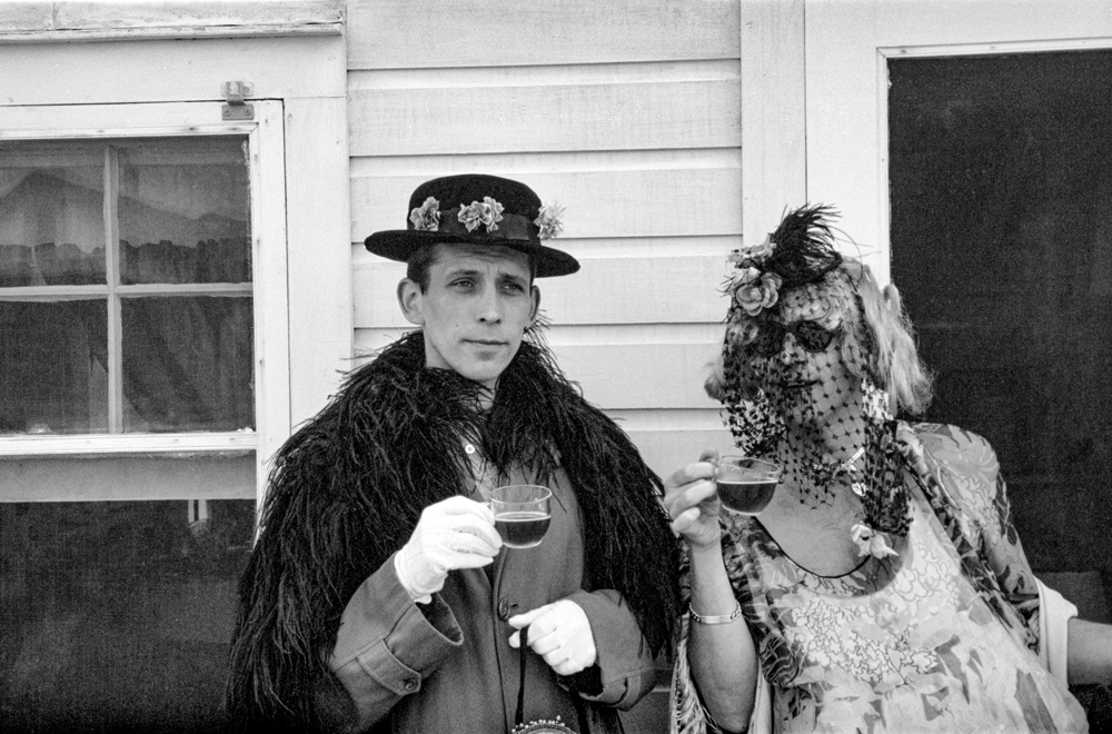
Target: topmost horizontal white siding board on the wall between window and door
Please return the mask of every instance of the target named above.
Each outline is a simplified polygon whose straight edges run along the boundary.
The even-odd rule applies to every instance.
[[[349,0],[350,69],[737,58],[741,0]]]

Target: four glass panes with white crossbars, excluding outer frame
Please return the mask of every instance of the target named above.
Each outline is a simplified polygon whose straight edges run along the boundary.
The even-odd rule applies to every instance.
[[[254,430],[245,136],[0,146],[0,433]]]

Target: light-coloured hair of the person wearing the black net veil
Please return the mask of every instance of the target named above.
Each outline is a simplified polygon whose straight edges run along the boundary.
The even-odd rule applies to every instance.
[[[897,298],[885,299],[868,266],[845,257],[822,280],[800,286],[810,299],[822,304],[826,315],[842,321],[840,350],[843,363],[856,377],[865,377],[888,393],[892,411],[920,414],[931,401],[932,379],[915,348],[911,319]],[[783,301],[787,291],[780,294]],[[742,359],[756,338],[759,320],[739,308],[731,309],[726,339]],[[735,373],[736,374],[736,373]],[[725,396],[723,354],[711,364],[705,384],[711,397]],[[743,385],[743,394],[753,387]]]

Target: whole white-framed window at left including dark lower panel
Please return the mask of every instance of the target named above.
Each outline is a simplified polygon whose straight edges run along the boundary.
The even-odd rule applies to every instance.
[[[222,726],[289,433],[282,108],[255,107],[0,108],[6,731]]]

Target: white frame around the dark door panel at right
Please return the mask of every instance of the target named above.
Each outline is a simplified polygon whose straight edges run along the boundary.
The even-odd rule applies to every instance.
[[[890,281],[887,61],[1112,48],[1103,0],[807,0],[806,198]]]

